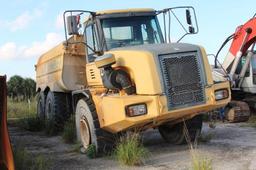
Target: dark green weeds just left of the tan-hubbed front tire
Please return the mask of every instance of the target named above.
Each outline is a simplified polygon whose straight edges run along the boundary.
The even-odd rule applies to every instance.
[[[76,123],[74,115],[64,124],[62,139],[65,143],[74,144],[76,142]]]

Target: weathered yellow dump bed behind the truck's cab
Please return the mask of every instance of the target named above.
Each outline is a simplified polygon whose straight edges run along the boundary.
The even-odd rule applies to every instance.
[[[82,42],[75,36],[69,42]],[[37,90],[49,87],[52,91],[68,92],[86,85],[85,46],[63,42],[43,54],[36,65]]]

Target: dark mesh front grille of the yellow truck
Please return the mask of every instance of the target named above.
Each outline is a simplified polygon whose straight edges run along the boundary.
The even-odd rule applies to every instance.
[[[205,101],[204,78],[196,52],[159,55],[169,110]]]

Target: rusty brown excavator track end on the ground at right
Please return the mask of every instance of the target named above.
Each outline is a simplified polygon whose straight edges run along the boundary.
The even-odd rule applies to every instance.
[[[246,122],[250,118],[249,105],[242,101],[231,101],[225,109],[225,117],[230,123]]]

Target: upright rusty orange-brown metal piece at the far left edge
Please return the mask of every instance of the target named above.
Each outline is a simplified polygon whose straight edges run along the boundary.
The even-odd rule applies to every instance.
[[[0,169],[14,170],[13,153],[7,129],[6,77],[0,76]]]

